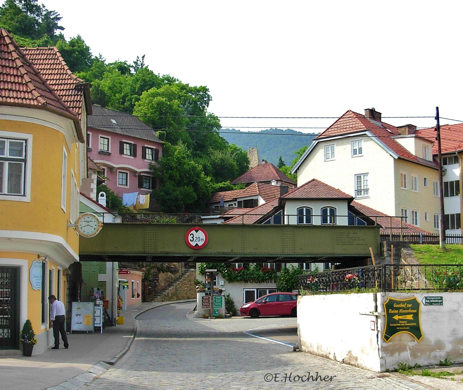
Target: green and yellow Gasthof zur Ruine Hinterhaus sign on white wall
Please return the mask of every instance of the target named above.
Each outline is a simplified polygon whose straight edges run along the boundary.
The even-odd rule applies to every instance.
[[[386,324],[382,338],[389,342],[398,333],[409,333],[418,342],[423,337],[419,326],[419,301],[416,297],[408,299],[394,299],[389,297],[384,303]]]

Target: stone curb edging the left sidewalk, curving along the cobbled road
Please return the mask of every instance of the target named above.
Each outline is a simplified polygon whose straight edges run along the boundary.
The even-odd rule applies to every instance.
[[[94,381],[94,379],[98,378],[100,375],[104,374],[111,366],[113,366],[119,359],[121,359],[129,350],[133,340],[135,340],[135,336],[138,332],[138,321],[137,317],[141,316],[142,314],[146,313],[147,311],[156,309],[161,306],[166,306],[166,305],[171,305],[175,303],[187,303],[187,302],[196,302],[196,299],[182,299],[180,301],[168,301],[168,302],[159,302],[159,304],[153,305],[149,308],[145,308],[144,310],[141,310],[139,313],[137,313],[133,319],[133,328],[131,335],[129,337],[129,340],[125,343],[125,347],[120,351],[116,356],[113,357],[113,359],[105,362],[105,361],[99,361],[92,367],[88,369],[87,372],[82,372],[81,374],[68,379],[67,381],[64,381],[60,384],[56,384],[51,387],[47,387],[44,390],[80,390],[84,386],[87,386],[91,382]],[[156,302],[157,303],[157,302]]]

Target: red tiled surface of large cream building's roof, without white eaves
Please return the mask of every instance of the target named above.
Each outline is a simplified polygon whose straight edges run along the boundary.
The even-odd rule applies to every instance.
[[[400,145],[399,142],[392,138],[394,136],[399,136],[397,127],[385,122],[376,122],[366,118],[362,114],[350,110],[346,111],[341,118],[334,122],[328,129],[316,136],[315,140],[333,136],[348,135],[359,131],[370,131],[378,141],[382,142],[388,149],[403,160],[413,161],[421,165],[437,168],[437,165],[433,161],[427,161],[413,155]]]

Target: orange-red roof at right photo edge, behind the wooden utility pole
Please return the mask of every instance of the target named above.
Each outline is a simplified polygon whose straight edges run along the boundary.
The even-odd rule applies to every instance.
[[[436,128],[418,129],[414,134],[433,142],[432,154],[438,154]],[[443,124],[440,126],[440,144],[442,153],[455,153],[463,150],[463,123]]]

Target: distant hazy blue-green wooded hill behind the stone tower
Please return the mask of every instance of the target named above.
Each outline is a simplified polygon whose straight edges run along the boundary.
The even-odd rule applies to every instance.
[[[275,135],[281,134],[281,135]],[[240,131],[236,129],[221,129],[220,135],[229,143],[248,150],[256,147],[259,157],[277,165],[280,156],[289,165],[295,157],[295,152],[312,143],[316,134],[306,134],[291,129],[268,129],[261,131]]]

